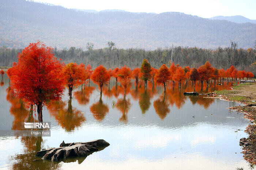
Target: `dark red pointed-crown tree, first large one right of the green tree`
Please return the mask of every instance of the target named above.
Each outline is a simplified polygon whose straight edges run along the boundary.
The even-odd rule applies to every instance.
[[[166,82],[170,80],[170,70],[168,67],[166,67],[165,64],[163,64],[157,71],[157,74],[155,74],[155,82],[159,84],[163,84],[163,91],[166,92]]]

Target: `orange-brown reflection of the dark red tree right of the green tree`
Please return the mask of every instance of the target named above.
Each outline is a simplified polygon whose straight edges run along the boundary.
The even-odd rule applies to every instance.
[[[168,103],[165,101],[165,95],[163,97],[160,96],[157,100],[155,100],[153,106],[155,108],[155,112],[162,120],[165,119],[166,115],[170,112]]]

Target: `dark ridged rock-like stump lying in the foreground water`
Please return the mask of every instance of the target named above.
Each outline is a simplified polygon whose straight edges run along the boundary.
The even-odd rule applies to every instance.
[[[58,148],[48,148],[38,151],[35,156],[52,161],[74,157],[86,157],[95,151],[103,150],[109,143],[103,139],[92,140],[90,142],[65,143],[64,141]]]

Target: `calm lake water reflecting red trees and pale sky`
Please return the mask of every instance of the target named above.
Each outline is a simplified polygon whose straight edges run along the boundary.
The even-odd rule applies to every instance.
[[[20,122],[37,119],[25,104],[8,92],[4,77],[0,86],[0,130],[19,129]],[[210,84],[208,91],[230,89],[231,84]],[[166,95],[161,86],[149,83],[147,92],[132,84],[123,99],[123,88],[114,80],[103,89],[97,86],[74,90],[69,101],[43,110],[43,120],[51,121],[50,137],[0,137],[1,169],[236,169],[249,164],[243,159],[240,138],[247,137],[249,124],[242,113],[227,109],[239,105],[215,98],[184,96],[193,91],[191,82]],[[196,86],[200,91],[200,85]],[[204,86],[204,92],[206,87]],[[195,118],[194,118],[194,117]],[[237,131],[238,129],[242,131]],[[237,131],[237,132],[235,132]],[[32,161],[42,148],[58,147],[64,140],[86,142],[104,139],[110,146],[86,159]],[[74,161],[74,162],[72,162]]]

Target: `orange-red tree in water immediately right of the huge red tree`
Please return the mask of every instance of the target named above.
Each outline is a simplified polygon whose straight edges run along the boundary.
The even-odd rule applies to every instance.
[[[63,68],[63,75],[68,87],[69,98],[72,98],[72,90],[81,85],[85,78],[86,72],[84,64],[77,65],[76,63],[69,63]]]

